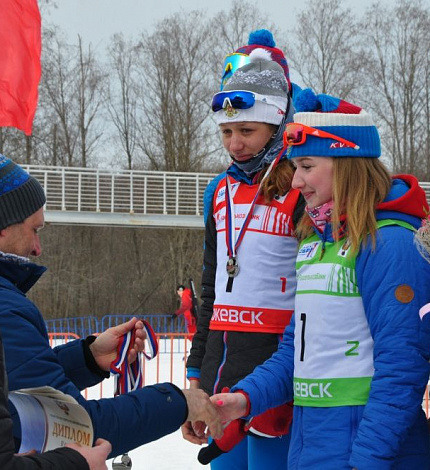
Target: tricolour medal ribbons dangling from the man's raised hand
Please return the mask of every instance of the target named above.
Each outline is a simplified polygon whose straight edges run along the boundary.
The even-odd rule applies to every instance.
[[[117,357],[112,361],[110,371],[115,377],[114,396],[128,393],[143,387],[143,356],[151,360],[158,354],[157,336],[151,325],[142,320],[143,328],[149,344],[150,353],[137,353],[137,358],[133,364],[128,363],[128,353],[133,347],[136,331],[129,331],[123,335],[117,348]]]

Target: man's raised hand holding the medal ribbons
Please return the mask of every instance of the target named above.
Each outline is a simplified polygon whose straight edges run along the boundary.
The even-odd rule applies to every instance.
[[[135,317],[126,323],[108,328],[97,336],[94,343],[90,344],[91,353],[100,369],[107,372],[110,370],[111,362],[117,356],[117,348],[121,337],[132,331],[133,328],[136,331],[134,345],[132,345],[132,349],[130,349],[127,356],[129,364],[132,364],[137,358],[137,353],[144,350],[146,339],[143,322]]]

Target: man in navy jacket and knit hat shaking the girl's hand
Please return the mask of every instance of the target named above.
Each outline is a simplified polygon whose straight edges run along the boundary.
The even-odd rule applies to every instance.
[[[201,390],[180,390],[171,383],[147,386],[116,398],[85,400],[80,391],[109,377],[122,335],[136,330],[129,360],[143,349],[142,322],[132,319],[52,349],[43,317],[26,298],[46,270],[30,262],[41,254],[45,193],[39,182],[0,155],[0,331],[9,389],[49,385],[73,396],[89,413],[94,438],[112,444],[111,457],[177,430],[185,421],[205,421],[214,435],[222,426]]]

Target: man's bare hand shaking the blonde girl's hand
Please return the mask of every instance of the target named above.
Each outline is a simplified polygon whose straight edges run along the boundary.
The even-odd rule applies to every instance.
[[[189,437],[187,440],[195,444],[207,442],[209,435],[214,439],[219,439],[223,432],[222,423],[217,408],[211,403],[209,395],[200,389],[182,390],[182,392],[187,399],[187,422],[190,422],[190,424],[185,423],[185,428],[182,429],[184,438]],[[195,429],[191,423],[196,427]],[[204,432],[204,423],[206,423],[209,432]],[[184,431],[187,437],[185,437]]]

